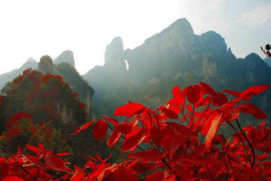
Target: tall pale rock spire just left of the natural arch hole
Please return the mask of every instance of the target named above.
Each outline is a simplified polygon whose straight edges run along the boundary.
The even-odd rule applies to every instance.
[[[104,53],[104,65],[113,66],[114,68],[126,69],[123,58],[123,43],[121,37],[113,38],[112,42],[106,46]]]

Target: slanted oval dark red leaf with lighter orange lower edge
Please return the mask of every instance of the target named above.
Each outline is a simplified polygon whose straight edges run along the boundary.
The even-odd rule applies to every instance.
[[[133,150],[144,140],[147,134],[148,134],[147,129],[141,129],[135,135],[125,140],[125,142],[122,144],[122,148],[121,148],[122,152]]]

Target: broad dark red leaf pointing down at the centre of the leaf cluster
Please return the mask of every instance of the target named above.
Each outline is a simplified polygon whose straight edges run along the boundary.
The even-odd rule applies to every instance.
[[[161,145],[166,151],[171,153],[176,148],[178,148],[184,141],[184,136],[179,134],[173,134],[163,138],[161,141]]]

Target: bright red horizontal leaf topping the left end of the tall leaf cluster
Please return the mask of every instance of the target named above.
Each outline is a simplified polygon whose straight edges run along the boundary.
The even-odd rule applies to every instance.
[[[118,107],[114,111],[114,115],[118,116],[133,116],[143,112],[145,107],[142,104],[131,103]]]

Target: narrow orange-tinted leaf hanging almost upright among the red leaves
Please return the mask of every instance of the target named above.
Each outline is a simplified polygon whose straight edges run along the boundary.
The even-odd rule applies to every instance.
[[[206,135],[206,138],[205,138],[205,147],[207,149],[209,149],[211,147],[212,140],[218,131],[220,119],[221,119],[221,115],[215,117],[211,122],[210,129],[209,129],[209,131]]]

